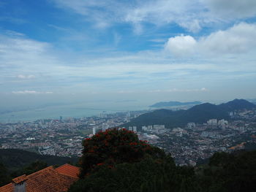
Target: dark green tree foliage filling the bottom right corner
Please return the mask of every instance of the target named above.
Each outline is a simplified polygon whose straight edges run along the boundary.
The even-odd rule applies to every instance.
[[[215,153],[198,173],[203,191],[256,191],[256,150]]]

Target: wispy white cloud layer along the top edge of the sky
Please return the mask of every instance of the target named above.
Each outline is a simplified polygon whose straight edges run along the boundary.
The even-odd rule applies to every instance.
[[[255,0],[51,0],[56,6],[77,12],[94,26],[130,23],[141,34],[144,23],[163,26],[176,23],[197,32],[213,23],[228,23],[256,16]]]

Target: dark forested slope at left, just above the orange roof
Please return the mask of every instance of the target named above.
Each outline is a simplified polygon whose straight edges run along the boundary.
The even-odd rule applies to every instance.
[[[0,163],[10,170],[20,169],[34,161],[44,161],[50,165],[62,165],[68,162],[75,164],[78,158],[58,157],[52,155],[39,155],[26,150],[18,149],[0,149]]]

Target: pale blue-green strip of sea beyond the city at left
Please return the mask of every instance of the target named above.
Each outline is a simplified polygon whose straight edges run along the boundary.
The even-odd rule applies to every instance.
[[[82,118],[90,117],[93,115],[99,115],[103,111],[107,113],[113,112],[126,112],[131,110],[148,110],[147,106],[143,106],[136,103],[108,103],[108,104],[69,104],[42,107],[31,110],[23,110],[17,112],[8,112],[0,114],[0,122],[18,122],[18,121],[32,121],[38,119],[59,119],[60,116],[63,118],[73,117]]]

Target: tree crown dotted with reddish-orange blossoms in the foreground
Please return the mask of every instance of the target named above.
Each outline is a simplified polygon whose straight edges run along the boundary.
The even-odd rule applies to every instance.
[[[127,129],[108,129],[83,141],[80,158],[80,177],[95,172],[101,166],[113,169],[116,164],[134,163],[143,158],[161,158],[165,153],[158,147],[138,139],[137,134]]]

